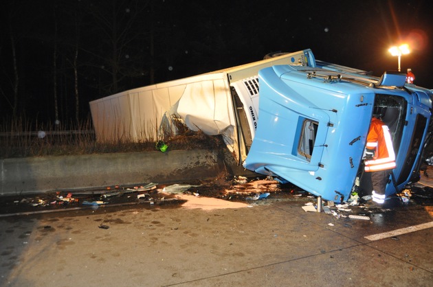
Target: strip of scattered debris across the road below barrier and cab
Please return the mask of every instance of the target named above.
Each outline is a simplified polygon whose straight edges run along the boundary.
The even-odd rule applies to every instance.
[[[290,183],[282,184],[270,176],[265,178],[247,178],[246,176],[217,176],[214,179],[197,180],[189,184],[159,185],[158,183],[135,184],[131,186],[111,185],[109,187],[94,187],[89,190],[65,190],[47,192],[36,195],[17,195],[8,198],[0,197],[1,214],[25,214],[26,212],[61,211],[67,209],[93,210],[98,207],[111,207],[119,205],[181,205],[186,199],[179,195],[191,195],[202,200],[206,198],[219,198],[222,200],[247,203],[248,207],[267,204],[278,200],[294,200],[307,203],[302,209],[313,211],[334,218],[347,218],[349,215],[366,216],[374,215],[392,210],[385,207],[374,206],[368,201],[371,196],[359,197],[358,194],[351,194],[347,202],[338,200],[337,203],[329,200],[322,200],[320,210],[317,203],[320,202],[317,196]],[[266,200],[265,200],[266,199]],[[10,200],[10,201],[7,201]],[[188,200],[190,200],[188,198]],[[402,190],[392,197],[392,200],[399,205],[421,204],[433,205],[433,187],[411,186]],[[43,209],[43,210],[41,210]],[[320,212],[319,212],[320,211]],[[367,219],[365,218],[365,219]],[[351,218],[355,219],[355,218]]]

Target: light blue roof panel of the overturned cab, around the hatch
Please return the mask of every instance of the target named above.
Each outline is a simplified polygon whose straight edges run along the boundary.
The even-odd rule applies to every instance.
[[[375,94],[360,85],[307,78],[307,73],[308,68],[291,66],[259,72],[260,117],[244,167],[280,176],[325,200],[347,199]],[[305,119],[318,123],[311,158],[299,152]]]

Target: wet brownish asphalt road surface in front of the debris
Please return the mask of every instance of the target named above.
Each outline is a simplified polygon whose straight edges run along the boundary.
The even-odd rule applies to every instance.
[[[432,286],[422,200],[333,215],[304,211],[317,199],[296,192],[189,196],[2,214],[0,286]]]

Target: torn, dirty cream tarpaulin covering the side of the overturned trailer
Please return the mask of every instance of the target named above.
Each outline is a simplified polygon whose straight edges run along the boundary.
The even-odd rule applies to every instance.
[[[99,141],[157,140],[162,123],[170,126],[174,116],[191,130],[223,135],[233,151],[236,123],[226,77],[223,71],[207,73],[94,100],[96,136]]]

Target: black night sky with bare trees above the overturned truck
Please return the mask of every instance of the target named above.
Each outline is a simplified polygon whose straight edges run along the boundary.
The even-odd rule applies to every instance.
[[[0,112],[85,119],[113,93],[310,48],[315,58],[401,71],[433,88],[429,1],[5,0],[0,12]],[[13,45],[12,45],[13,44]],[[76,72],[76,74],[75,74]],[[56,100],[57,99],[57,104]],[[78,108],[76,106],[78,99]]]

